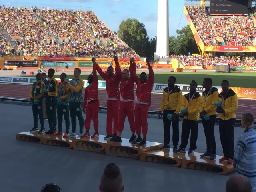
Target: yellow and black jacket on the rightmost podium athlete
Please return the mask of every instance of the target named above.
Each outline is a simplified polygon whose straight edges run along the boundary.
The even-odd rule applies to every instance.
[[[238,98],[236,93],[232,89],[229,89],[225,96],[223,95],[223,92],[218,94],[217,102],[222,102],[222,107],[225,110],[225,113],[219,114],[219,117],[222,120],[229,120],[229,119],[236,118],[236,110],[238,108]]]

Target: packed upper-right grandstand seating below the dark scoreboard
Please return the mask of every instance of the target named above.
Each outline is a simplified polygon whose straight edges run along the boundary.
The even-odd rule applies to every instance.
[[[250,16],[213,16],[200,6],[186,7],[204,45],[216,46],[214,36],[222,36],[226,46],[255,46],[255,14]],[[209,20],[210,19],[210,20]],[[212,22],[212,24],[211,24]]]

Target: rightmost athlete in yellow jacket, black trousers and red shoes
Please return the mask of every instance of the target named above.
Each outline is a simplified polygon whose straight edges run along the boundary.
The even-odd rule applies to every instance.
[[[232,164],[234,156],[234,125],[236,120],[236,110],[238,108],[238,97],[236,93],[229,89],[227,80],[221,82],[222,92],[218,95],[218,102],[222,102],[222,108],[216,108],[220,117],[220,142],[223,148],[223,157],[220,162],[228,161]]]

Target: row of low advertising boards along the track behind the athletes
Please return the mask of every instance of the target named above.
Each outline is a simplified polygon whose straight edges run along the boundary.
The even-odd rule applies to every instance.
[[[60,81],[60,79],[56,79]],[[71,79],[70,79],[71,80]],[[0,83],[11,83],[11,84],[33,84],[36,82],[36,78],[34,77],[20,77],[20,76],[0,76]],[[88,86],[87,80],[84,80],[84,87]],[[162,93],[164,89],[168,86],[168,84],[159,84],[155,83],[153,86],[152,92]],[[187,94],[189,92],[189,85],[177,85],[183,92],[183,94]],[[215,86],[218,89],[218,92],[222,91],[220,86]],[[98,85],[99,89],[106,89],[106,82],[99,81]],[[234,92],[236,92],[238,98],[246,98],[246,99],[256,99],[256,88],[243,88],[243,87],[230,87]],[[136,84],[134,84],[134,90],[136,90]],[[205,88],[202,86],[198,86],[197,91],[202,95]]]

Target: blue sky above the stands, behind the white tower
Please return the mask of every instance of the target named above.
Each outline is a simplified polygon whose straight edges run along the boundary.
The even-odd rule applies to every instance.
[[[157,32],[158,0],[8,0],[8,2],[11,2],[10,4],[14,7],[46,5],[50,8],[89,9],[116,32],[122,20],[136,18],[145,24],[150,38],[156,36]],[[8,5],[8,3],[5,4]],[[170,36],[176,35],[179,23],[179,29],[188,24],[183,14],[183,6],[184,0],[169,0]]]

